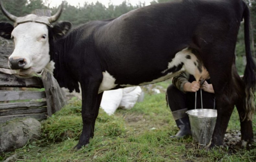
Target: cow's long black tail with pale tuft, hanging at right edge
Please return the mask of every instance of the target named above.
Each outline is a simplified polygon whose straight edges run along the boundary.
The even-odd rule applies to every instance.
[[[244,13],[244,40],[246,51],[246,66],[243,76],[243,82],[245,84],[245,116],[244,120],[252,120],[255,112],[255,90],[256,90],[256,66],[251,55],[250,50],[250,11],[247,5],[245,5]]]

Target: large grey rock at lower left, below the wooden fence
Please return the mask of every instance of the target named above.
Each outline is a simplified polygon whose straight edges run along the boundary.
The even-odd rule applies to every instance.
[[[23,147],[40,138],[41,123],[34,118],[18,119],[0,125],[0,152]]]

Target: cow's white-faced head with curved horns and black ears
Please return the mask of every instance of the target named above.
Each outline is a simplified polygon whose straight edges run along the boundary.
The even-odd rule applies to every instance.
[[[33,14],[16,17],[6,11],[1,0],[0,8],[3,14],[14,22],[14,26],[5,22],[0,23],[0,36],[13,39],[15,43],[15,49],[9,56],[10,68],[17,70],[20,76],[40,74],[43,69],[52,71],[54,66],[50,62],[49,42],[52,42],[51,39],[64,36],[71,28],[70,22],[52,25],[60,17],[63,4],[51,17]],[[52,30],[51,36],[49,30]]]

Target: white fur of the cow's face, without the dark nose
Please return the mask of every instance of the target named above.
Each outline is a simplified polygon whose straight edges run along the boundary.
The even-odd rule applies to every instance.
[[[34,22],[19,24],[12,31],[15,49],[10,58],[23,58],[27,64],[18,73],[33,75],[39,73],[50,62],[48,29],[46,25]]]

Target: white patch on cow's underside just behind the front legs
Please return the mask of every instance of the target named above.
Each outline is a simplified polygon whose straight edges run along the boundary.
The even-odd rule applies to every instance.
[[[102,74],[103,74],[103,79],[99,86],[98,93],[101,93],[105,90],[110,90],[117,86],[117,84],[115,84],[116,79],[112,75],[110,75],[107,71],[102,72]]]

